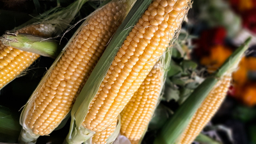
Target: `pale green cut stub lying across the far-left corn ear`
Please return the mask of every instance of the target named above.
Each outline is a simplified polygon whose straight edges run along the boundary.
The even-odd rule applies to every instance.
[[[59,54],[58,43],[54,40],[47,40],[42,37],[18,34],[3,35],[0,39],[6,46],[11,46],[22,51],[33,52],[42,56],[56,58]]]

